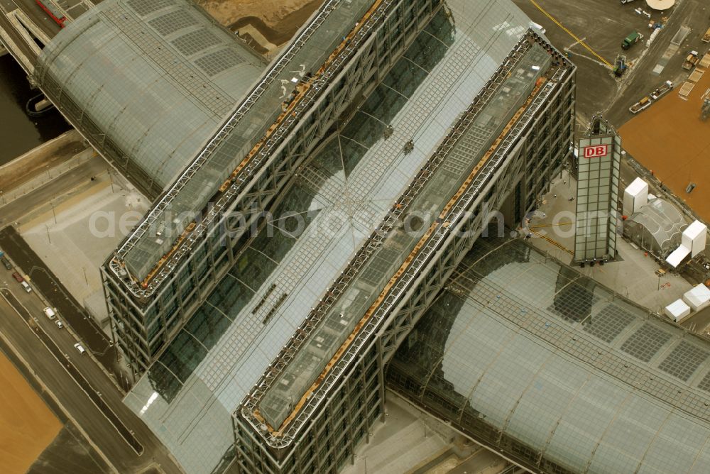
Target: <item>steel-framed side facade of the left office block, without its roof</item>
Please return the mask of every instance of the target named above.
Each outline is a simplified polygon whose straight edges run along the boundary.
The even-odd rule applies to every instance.
[[[382,16],[372,18],[383,25],[385,13],[391,14],[400,6],[417,2],[400,2],[391,8],[392,2],[383,2]],[[418,2],[421,5],[422,2]],[[240,250],[249,241],[249,228],[266,209],[278,204],[279,192],[284,189],[297,167],[302,165],[307,155],[314,150],[329,130],[341,121],[353,101],[366,97],[384,77],[413,42],[415,33],[425,25],[437,11],[439,0],[430,0],[417,11],[418,27],[401,31],[404,40],[399,53],[388,50],[388,42],[396,38],[368,35],[356,48],[354,57],[340,67],[338,75],[332,76],[330,84],[323,84],[323,93],[317,103],[295,124],[292,131],[275,150],[261,168],[253,171],[253,177],[239,194],[231,194],[231,204],[209,209],[208,215],[218,217],[217,221],[203,221],[204,229],[194,232],[184,247],[185,259],[177,268],[170,270],[165,280],[151,297],[136,298],[126,287],[124,278],[116,275],[108,265],[102,267],[104,292],[106,294],[111,327],[114,338],[131,360],[133,375],[143,373],[160,355],[160,350],[187,323],[200,303],[209,295],[217,283],[226,275]],[[395,33],[395,32],[390,32]],[[233,186],[231,189],[237,189]],[[246,217],[246,225],[236,231],[230,229],[230,216],[241,213]],[[169,265],[168,265],[169,267]],[[160,328],[160,329],[154,329]]]

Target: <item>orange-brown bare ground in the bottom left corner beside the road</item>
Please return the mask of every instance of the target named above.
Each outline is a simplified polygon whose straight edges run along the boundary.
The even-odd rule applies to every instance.
[[[25,473],[62,424],[2,353],[0,387],[1,471]]]

